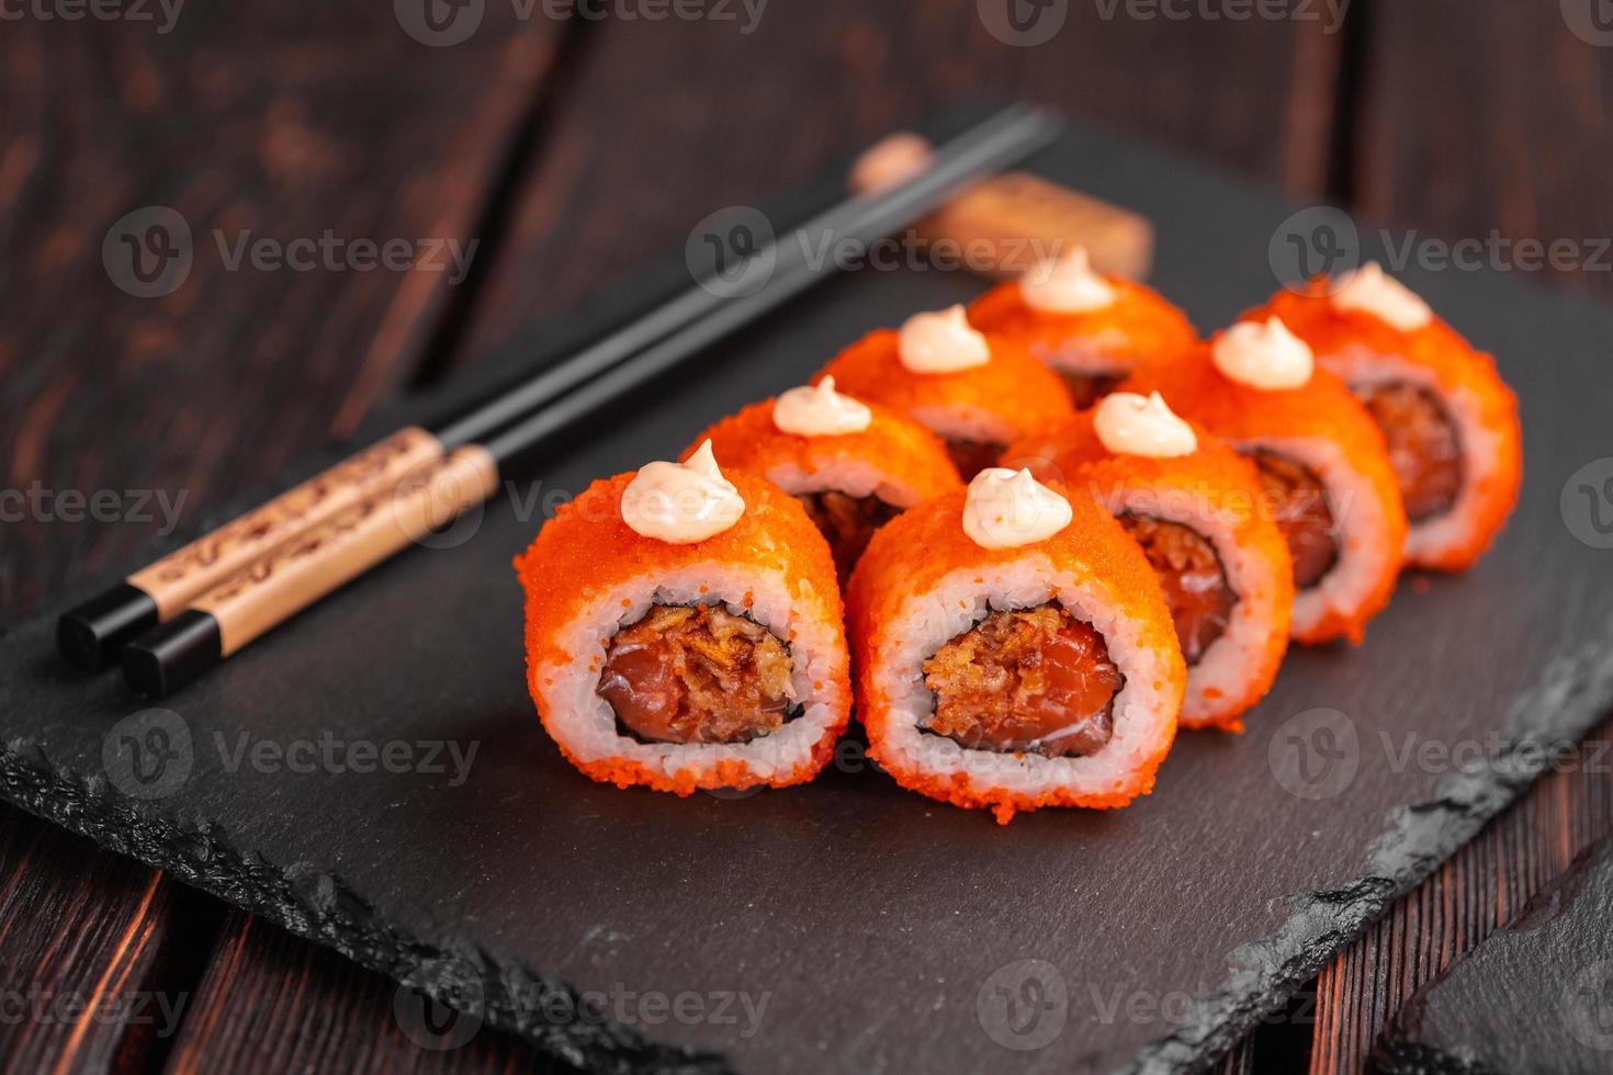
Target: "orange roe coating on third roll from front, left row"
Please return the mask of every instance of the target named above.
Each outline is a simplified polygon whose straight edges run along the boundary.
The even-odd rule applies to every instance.
[[[877,329],[836,355],[813,376],[834,377],[836,392],[911,416],[923,408],[969,408],[1010,427],[1008,438],[1074,414],[1058,374],[1007,340],[989,340],[990,361],[950,374],[915,374],[902,364],[894,329]]]

